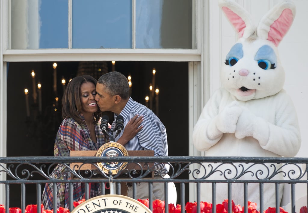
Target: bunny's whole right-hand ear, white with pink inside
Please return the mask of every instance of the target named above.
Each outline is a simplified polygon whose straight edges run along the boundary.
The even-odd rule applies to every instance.
[[[285,0],[274,6],[261,19],[257,27],[258,37],[273,42],[277,47],[290,29],[295,13],[295,5],[290,0]]]

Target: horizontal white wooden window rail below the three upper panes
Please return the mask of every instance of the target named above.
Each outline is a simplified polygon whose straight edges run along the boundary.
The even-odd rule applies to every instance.
[[[197,50],[6,50],[5,62],[27,61],[200,61],[201,53]]]

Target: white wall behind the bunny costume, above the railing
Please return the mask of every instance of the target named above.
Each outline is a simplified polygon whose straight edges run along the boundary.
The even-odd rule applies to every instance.
[[[252,15],[255,24],[280,0],[238,0]],[[308,157],[308,0],[294,0],[296,16],[289,32],[278,46],[281,62],[286,72],[284,89],[291,96],[298,114],[302,136],[301,149],[296,157]],[[210,1],[209,23],[209,88],[212,94],[220,87],[219,70],[225,55],[237,41],[237,36],[218,7]]]

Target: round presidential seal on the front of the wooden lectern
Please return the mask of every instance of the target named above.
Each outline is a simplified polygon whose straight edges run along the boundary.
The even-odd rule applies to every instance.
[[[119,156],[128,156],[128,152],[124,146],[116,142],[105,143],[102,145],[96,153],[97,157],[119,157]],[[98,162],[97,166],[104,173],[109,174],[109,171],[112,174],[117,174],[120,170],[124,169],[127,165],[127,162]]]

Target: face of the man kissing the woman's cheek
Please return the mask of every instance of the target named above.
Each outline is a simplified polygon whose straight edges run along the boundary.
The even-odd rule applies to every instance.
[[[96,96],[95,100],[97,105],[99,106],[100,111],[106,112],[111,111],[114,112],[115,106],[115,96],[111,96],[105,92],[105,86],[103,84],[96,84]]]

